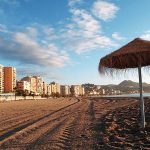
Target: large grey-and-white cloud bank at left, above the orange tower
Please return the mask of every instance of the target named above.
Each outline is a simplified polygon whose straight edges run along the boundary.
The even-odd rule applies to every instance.
[[[24,64],[63,67],[70,61],[67,53],[54,43],[42,46],[26,32],[12,34],[11,40],[0,39],[0,56]]]

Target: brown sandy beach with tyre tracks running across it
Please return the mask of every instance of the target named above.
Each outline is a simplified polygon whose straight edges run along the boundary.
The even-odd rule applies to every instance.
[[[0,103],[1,150],[150,149],[136,98],[58,98]]]

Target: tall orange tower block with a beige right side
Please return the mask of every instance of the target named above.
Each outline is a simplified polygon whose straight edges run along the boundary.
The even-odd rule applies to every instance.
[[[4,92],[10,93],[16,87],[16,68],[3,67],[4,70]]]

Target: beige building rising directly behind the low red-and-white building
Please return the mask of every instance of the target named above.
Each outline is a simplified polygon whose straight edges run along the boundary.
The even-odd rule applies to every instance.
[[[37,94],[37,82],[35,77],[27,76],[22,78],[21,81],[28,81],[30,83],[30,91],[34,94]]]

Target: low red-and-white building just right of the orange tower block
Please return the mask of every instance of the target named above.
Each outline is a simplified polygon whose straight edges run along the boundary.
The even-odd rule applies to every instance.
[[[28,81],[18,81],[17,89],[20,91],[28,91],[30,93],[30,82]]]

